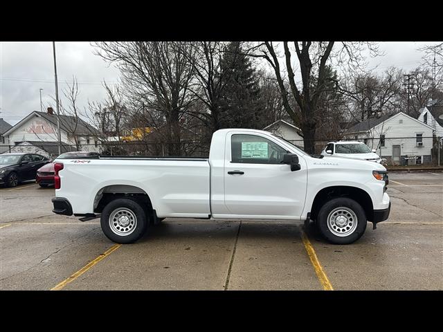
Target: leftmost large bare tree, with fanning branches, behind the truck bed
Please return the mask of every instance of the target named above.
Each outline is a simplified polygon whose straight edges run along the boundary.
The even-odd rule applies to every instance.
[[[116,62],[123,74],[127,95],[138,109],[153,112],[148,122],[165,124],[168,154],[180,155],[179,120],[188,112],[195,96],[190,92],[194,77],[190,44],[185,42],[99,42],[97,54]],[[187,56],[181,50],[186,50]]]

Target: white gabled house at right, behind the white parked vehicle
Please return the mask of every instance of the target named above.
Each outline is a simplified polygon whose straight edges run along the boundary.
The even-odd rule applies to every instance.
[[[392,165],[432,161],[433,127],[403,112],[359,122],[345,133],[345,137],[377,149],[377,154]]]

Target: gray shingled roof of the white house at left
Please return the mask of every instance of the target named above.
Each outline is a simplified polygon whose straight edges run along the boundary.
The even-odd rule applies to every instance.
[[[57,125],[57,116],[55,114],[33,111],[26,118],[20,120],[17,124],[8,129],[4,134],[10,134],[12,131],[15,131],[18,127],[21,126],[23,122],[29,120],[32,116],[38,116],[40,118],[44,118],[46,121],[51,122],[55,126]],[[77,122],[77,123],[76,123]],[[98,135],[100,131],[96,128],[92,127],[91,124],[88,124],[84,120],[80,118],[76,118],[74,116],[60,116],[60,129],[66,131],[66,133],[74,133],[76,135]]]

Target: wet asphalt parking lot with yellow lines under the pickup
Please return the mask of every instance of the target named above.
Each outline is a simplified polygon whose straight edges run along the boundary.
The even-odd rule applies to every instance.
[[[116,245],[51,212],[51,188],[0,188],[1,290],[442,290],[443,173],[390,173],[388,221],[348,246],[309,225],[165,219]]]

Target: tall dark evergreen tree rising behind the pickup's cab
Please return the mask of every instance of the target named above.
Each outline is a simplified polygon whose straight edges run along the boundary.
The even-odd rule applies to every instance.
[[[223,93],[219,104],[221,128],[262,129],[267,123],[260,102],[259,77],[242,52],[241,42],[230,42],[221,59]]]

